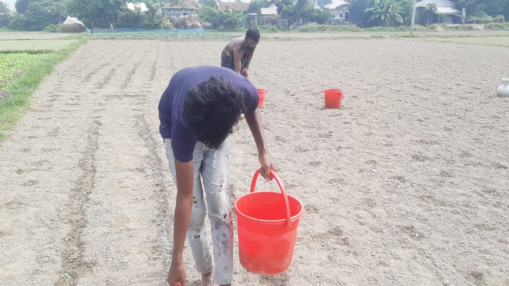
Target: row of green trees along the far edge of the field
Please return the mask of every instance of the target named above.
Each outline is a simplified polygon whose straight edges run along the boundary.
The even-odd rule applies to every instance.
[[[182,3],[183,0],[172,0]],[[460,11],[466,9],[469,18],[509,19],[508,0],[452,0]],[[165,28],[171,27],[165,21],[164,5],[160,0],[143,0],[148,11],[128,9],[127,0],[17,0],[16,13],[0,2],[0,26],[11,30],[42,31],[58,24],[67,16],[76,17],[88,27]],[[236,28],[249,24],[250,18],[242,12],[221,11],[213,0],[200,0],[202,9],[199,17],[210,23],[212,28]],[[350,22],[359,27],[410,25],[412,0],[349,0]],[[319,0],[321,6],[330,0]],[[332,21],[329,9],[317,9],[313,0],[251,0],[248,13],[261,14],[262,8],[277,7],[278,17],[290,23],[316,22],[327,24]],[[320,8],[320,7],[319,7]],[[418,9],[416,23],[430,24],[436,6],[427,5]]]

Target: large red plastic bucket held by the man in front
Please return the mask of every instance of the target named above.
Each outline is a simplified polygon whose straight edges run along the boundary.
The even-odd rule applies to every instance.
[[[247,271],[260,275],[279,274],[292,264],[302,203],[286,193],[277,174],[270,176],[281,192],[255,192],[260,170],[254,173],[251,192],[235,201],[239,236],[240,264]]]

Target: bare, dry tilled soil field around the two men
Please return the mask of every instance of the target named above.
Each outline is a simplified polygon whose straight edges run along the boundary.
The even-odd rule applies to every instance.
[[[0,285],[164,285],[175,188],[157,103],[175,71],[217,65],[223,45],[93,40],[56,68],[0,143]],[[507,55],[261,42],[250,78],[268,90],[267,141],[307,212],[292,267],[260,277],[236,260],[235,284],[509,285],[509,100],[494,96]],[[325,88],[344,90],[341,110],[323,109]],[[237,129],[232,202],[257,167]],[[196,285],[188,249],[185,263]]]

